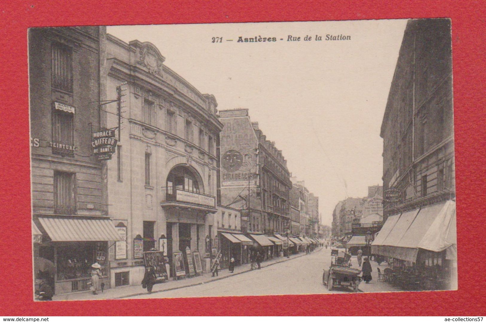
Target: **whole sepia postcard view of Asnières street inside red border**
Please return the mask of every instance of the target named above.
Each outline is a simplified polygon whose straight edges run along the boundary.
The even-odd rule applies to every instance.
[[[457,289],[449,19],[28,36],[35,301]]]

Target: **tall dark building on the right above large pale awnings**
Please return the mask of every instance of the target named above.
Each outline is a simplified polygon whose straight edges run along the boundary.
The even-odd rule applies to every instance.
[[[450,19],[408,21],[381,137],[385,224],[373,251],[455,280]]]

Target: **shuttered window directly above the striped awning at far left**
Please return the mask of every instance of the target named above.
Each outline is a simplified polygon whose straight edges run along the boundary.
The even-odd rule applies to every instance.
[[[73,215],[75,209],[74,174],[54,172],[54,213]]]

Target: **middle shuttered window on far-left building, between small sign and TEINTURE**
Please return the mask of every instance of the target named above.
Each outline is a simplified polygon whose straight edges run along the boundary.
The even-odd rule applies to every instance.
[[[74,146],[74,114],[60,110],[52,111],[52,142]],[[69,148],[52,147],[52,153],[74,155]]]

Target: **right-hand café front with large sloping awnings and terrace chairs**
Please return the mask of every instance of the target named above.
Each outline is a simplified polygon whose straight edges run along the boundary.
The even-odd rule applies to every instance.
[[[448,200],[389,216],[371,250],[423,289],[456,289],[456,245],[455,202]]]

